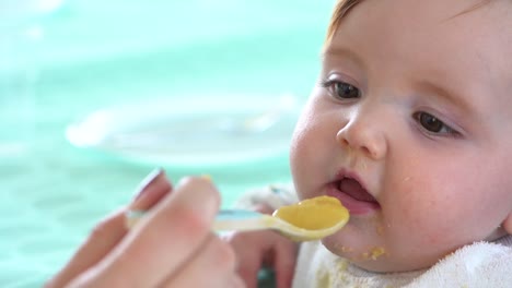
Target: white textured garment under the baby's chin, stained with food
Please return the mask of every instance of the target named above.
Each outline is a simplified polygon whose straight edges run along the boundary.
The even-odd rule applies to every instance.
[[[511,288],[512,236],[464,247],[424,271],[386,274],[358,268],[319,241],[305,242],[301,244],[293,288],[313,287]]]

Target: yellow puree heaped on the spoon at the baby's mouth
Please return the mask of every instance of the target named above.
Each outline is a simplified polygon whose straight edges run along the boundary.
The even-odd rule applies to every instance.
[[[303,229],[319,230],[347,221],[349,212],[337,199],[318,196],[283,206],[274,216]]]

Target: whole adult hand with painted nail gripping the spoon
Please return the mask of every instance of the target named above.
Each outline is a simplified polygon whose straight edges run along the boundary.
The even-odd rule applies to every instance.
[[[171,190],[163,172],[154,173],[46,287],[243,287],[231,247],[210,230],[220,202],[211,181],[186,178]],[[130,231],[127,209],[149,209]]]

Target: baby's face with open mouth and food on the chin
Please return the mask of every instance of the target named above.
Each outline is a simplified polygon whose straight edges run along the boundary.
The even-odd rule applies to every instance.
[[[424,268],[512,230],[512,3],[457,15],[473,4],[364,0],[326,47],[292,172],[301,199],[351,211],[324,244],[363,268]]]

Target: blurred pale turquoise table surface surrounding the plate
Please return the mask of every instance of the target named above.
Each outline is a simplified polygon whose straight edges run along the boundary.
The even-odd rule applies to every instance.
[[[0,152],[0,286],[40,287],[93,225],[161,166],[74,147],[65,137],[69,123],[103,107],[190,91],[305,99],[331,3],[70,0],[32,19],[25,27],[36,40],[16,50],[36,72],[30,98],[20,99],[21,146]],[[290,181],[286,153],[163,168],[173,181],[211,175],[224,207],[244,191]]]

